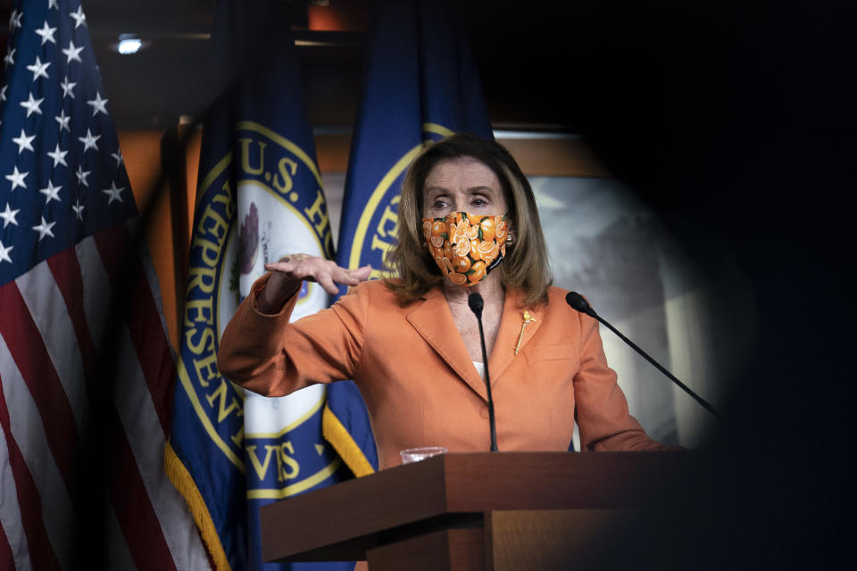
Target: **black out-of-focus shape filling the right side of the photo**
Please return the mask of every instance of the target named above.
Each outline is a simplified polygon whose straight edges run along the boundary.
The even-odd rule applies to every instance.
[[[760,325],[689,499],[618,543],[631,567],[823,568],[847,557],[857,186],[844,6],[568,10],[576,80],[563,116],[703,268],[720,267],[722,252],[737,261]]]

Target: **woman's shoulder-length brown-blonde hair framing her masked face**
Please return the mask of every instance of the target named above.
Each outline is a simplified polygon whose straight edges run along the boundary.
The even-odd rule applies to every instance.
[[[409,302],[445,279],[423,245],[423,189],[428,173],[437,163],[461,157],[476,159],[494,171],[509,205],[506,214],[514,244],[506,245],[506,257],[495,269],[500,274],[500,283],[507,290],[521,290],[527,304],[546,303],[547,288],[553,277],[533,189],[503,145],[470,134],[453,135],[429,145],[408,169],[399,202],[398,244],[387,252],[387,262],[395,267],[401,279],[386,280],[387,287],[400,300]]]

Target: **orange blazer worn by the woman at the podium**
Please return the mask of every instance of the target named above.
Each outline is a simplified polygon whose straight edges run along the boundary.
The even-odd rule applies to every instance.
[[[354,379],[382,469],[416,446],[488,450],[485,382],[439,288],[403,306],[382,282],[364,282],[330,309],[289,323],[296,295],[276,315],[257,309],[267,278],[257,280],[223,333],[224,376],[268,396]],[[488,359],[499,450],[566,451],[575,419],[585,451],[666,448],[628,414],[597,321],[572,310],[566,293],[552,287],[546,305],[526,308],[520,294],[506,293]],[[524,310],[535,321],[515,354]]]

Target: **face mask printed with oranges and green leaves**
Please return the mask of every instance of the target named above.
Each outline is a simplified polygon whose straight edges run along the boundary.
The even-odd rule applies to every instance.
[[[422,219],[422,234],[441,273],[455,285],[476,285],[506,255],[509,225],[503,214],[450,212]]]

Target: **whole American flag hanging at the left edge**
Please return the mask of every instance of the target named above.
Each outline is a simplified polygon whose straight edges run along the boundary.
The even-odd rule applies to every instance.
[[[4,65],[0,569],[209,568],[163,471],[175,365],[79,1],[15,2]]]

